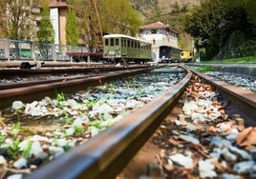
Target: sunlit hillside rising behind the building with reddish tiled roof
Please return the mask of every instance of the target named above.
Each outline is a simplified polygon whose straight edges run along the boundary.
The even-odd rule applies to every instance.
[[[180,31],[179,47],[192,50],[192,40],[183,31],[182,19],[200,0],[130,0],[135,10],[141,14],[144,24],[162,22]]]

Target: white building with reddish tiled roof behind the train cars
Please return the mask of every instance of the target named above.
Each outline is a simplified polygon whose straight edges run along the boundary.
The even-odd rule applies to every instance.
[[[159,61],[160,46],[178,48],[180,32],[161,22],[145,25],[139,29],[139,38],[152,43],[153,60]]]

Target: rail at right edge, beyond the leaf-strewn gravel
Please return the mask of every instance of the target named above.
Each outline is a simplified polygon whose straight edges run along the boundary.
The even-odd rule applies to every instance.
[[[229,100],[230,105],[233,106],[232,113],[238,112],[245,119],[245,126],[256,126],[256,93],[247,89],[235,87],[227,84],[224,81],[215,79],[203,73],[191,70],[193,73],[199,75],[208,84],[214,86],[221,91],[222,96]],[[254,120],[253,120],[254,119]]]

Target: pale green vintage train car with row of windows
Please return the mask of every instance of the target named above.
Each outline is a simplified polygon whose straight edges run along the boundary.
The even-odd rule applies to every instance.
[[[103,37],[103,58],[113,63],[152,61],[152,44],[122,34],[108,34]]]

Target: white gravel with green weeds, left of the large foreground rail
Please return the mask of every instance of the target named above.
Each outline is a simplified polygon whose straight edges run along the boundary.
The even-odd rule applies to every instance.
[[[162,90],[177,83],[184,75],[184,70],[176,69],[174,67],[174,71],[170,68],[163,72],[156,69],[153,73],[147,72],[148,70],[128,70],[118,72],[118,75],[111,73],[105,78],[113,80],[121,75],[122,80],[88,91],[85,89],[90,86],[83,85],[80,92],[72,93],[72,98],[60,92],[55,99],[44,97],[40,101],[35,100],[28,104],[19,100],[14,101],[11,109],[2,110],[1,117],[1,136],[4,139],[2,143],[5,144],[1,154],[7,157],[8,167],[15,166],[14,169],[7,170],[19,172],[25,168],[21,172],[30,172],[31,168],[27,169],[26,166],[34,168],[43,161],[53,160],[65,150],[84,143],[100,130],[107,129],[119,121],[127,115],[127,111],[140,108]],[[129,75],[139,72],[144,73],[138,77],[139,79],[128,78]],[[162,75],[159,76],[159,73]],[[103,85],[104,81],[108,81],[102,77],[96,77],[95,80],[96,85]],[[137,89],[139,91],[136,92]],[[9,141],[7,144],[6,140]],[[36,153],[32,153],[32,158],[20,157],[25,154],[19,151],[20,148],[23,151],[32,149]],[[48,152],[45,152],[46,150]],[[10,161],[9,158],[12,157],[21,159]],[[24,164],[24,158],[30,162]]]

